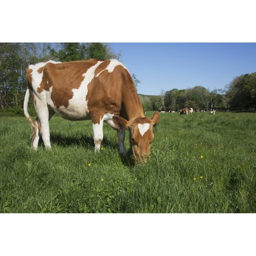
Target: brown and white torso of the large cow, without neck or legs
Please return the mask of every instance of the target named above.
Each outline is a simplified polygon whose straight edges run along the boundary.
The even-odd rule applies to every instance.
[[[46,103],[70,120],[90,119],[95,112],[119,114],[123,87],[130,78],[117,60],[96,59],[30,65],[27,76],[35,106]]]

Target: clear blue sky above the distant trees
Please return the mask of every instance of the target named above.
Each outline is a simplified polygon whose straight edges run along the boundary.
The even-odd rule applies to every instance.
[[[138,93],[203,86],[225,89],[236,76],[256,72],[256,43],[110,43],[141,82]]]

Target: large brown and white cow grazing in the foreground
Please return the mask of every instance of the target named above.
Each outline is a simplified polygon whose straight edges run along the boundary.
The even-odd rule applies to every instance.
[[[119,153],[126,156],[125,130],[136,165],[149,159],[153,126],[160,115],[155,111],[151,119],[144,116],[142,104],[127,68],[117,60],[81,60],[29,65],[26,69],[28,88],[24,100],[24,114],[32,134],[32,146],[37,150],[40,135],[46,149],[50,149],[49,120],[54,113],[68,120],[91,119],[95,151],[100,150],[103,122],[117,130]],[[34,120],[28,114],[29,96],[37,112]]]

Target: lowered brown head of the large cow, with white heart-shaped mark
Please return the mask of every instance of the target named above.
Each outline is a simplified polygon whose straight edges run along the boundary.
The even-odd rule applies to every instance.
[[[150,144],[154,138],[153,126],[159,121],[160,115],[156,111],[151,119],[137,117],[127,121],[126,119],[113,116],[113,122],[119,130],[129,130],[129,142],[132,148],[135,164],[148,162]]]

